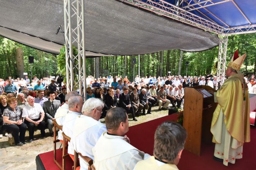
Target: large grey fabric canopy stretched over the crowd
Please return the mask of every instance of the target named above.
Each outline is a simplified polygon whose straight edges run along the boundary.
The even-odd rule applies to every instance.
[[[50,53],[65,40],[61,0],[0,0],[0,35]],[[219,39],[202,29],[116,0],[85,0],[86,55],[136,55],[182,49],[202,51]],[[73,23],[73,22],[72,22]],[[73,26],[73,25],[72,25]]]

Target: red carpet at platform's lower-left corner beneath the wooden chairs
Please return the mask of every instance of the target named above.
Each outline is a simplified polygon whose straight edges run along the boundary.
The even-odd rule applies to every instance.
[[[56,156],[57,161],[62,165],[62,150],[57,149],[56,155],[57,155]],[[53,150],[50,152],[39,154],[39,157],[43,162],[45,170],[59,170],[59,167],[54,163]],[[74,166],[74,162],[72,161],[72,159],[70,157],[67,157],[65,160],[66,160],[65,170],[72,170],[72,166]]]

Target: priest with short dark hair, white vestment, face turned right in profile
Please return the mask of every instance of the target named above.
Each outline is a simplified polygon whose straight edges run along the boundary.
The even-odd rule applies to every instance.
[[[96,170],[133,170],[145,153],[129,144],[125,135],[129,130],[125,109],[111,108],[105,117],[106,129],[93,150]]]

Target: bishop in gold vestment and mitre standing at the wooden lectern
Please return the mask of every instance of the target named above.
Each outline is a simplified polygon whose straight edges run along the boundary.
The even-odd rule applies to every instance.
[[[239,72],[245,57],[246,53],[239,57],[236,51],[226,70],[229,78],[217,92],[209,91],[218,102],[211,123],[215,143],[213,158],[225,166],[241,159],[242,146],[250,141],[248,87]]]

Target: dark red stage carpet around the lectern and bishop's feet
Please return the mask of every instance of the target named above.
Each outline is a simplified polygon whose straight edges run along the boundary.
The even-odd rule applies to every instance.
[[[127,136],[131,144],[139,150],[153,154],[154,132],[163,121],[176,121],[177,114],[161,117],[152,121],[131,126]],[[186,150],[181,155],[179,170],[256,170],[256,128],[251,127],[251,142],[245,143],[243,158],[237,159],[235,164],[224,166],[222,162],[213,160],[214,144],[202,144],[201,156],[198,157]]]

